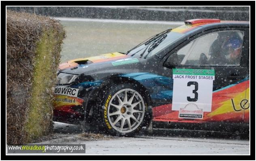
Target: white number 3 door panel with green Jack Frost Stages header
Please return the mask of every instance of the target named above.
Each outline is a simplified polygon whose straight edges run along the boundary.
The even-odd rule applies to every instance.
[[[179,118],[203,119],[203,113],[184,112],[184,108],[192,104],[197,107],[195,111],[211,112],[213,80],[214,70],[173,69],[172,110],[179,110]]]

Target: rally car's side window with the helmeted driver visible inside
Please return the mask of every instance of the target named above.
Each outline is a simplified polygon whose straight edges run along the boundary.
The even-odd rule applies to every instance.
[[[244,32],[221,31],[196,38],[177,51],[181,65],[240,65]]]

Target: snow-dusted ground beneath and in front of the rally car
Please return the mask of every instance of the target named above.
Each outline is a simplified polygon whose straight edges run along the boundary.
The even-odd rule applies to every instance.
[[[54,133],[40,144],[85,144],[87,155],[249,155],[250,141],[223,138],[191,138],[138,135],[134,138],[102,135],[101,139],[79,136],[79,125],[55,122]]]

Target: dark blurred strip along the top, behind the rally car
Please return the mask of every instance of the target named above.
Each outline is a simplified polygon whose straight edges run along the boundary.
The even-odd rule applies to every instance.
[[[231,1],[230,1],[231,2]],[[81,17],[92,19],[132,19],[151,21],[184,21],[187,19],[211,18],[221,20],[249,21],[246,6],[164,6],[164,7],[33,7],[7,6],[13,11],[25,11],[52,17]]]

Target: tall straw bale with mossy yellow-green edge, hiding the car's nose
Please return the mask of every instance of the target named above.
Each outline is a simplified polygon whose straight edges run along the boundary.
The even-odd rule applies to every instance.
[[[52,88],[66,32],[59,21],[7,10],[7,144],[51,131]]]

